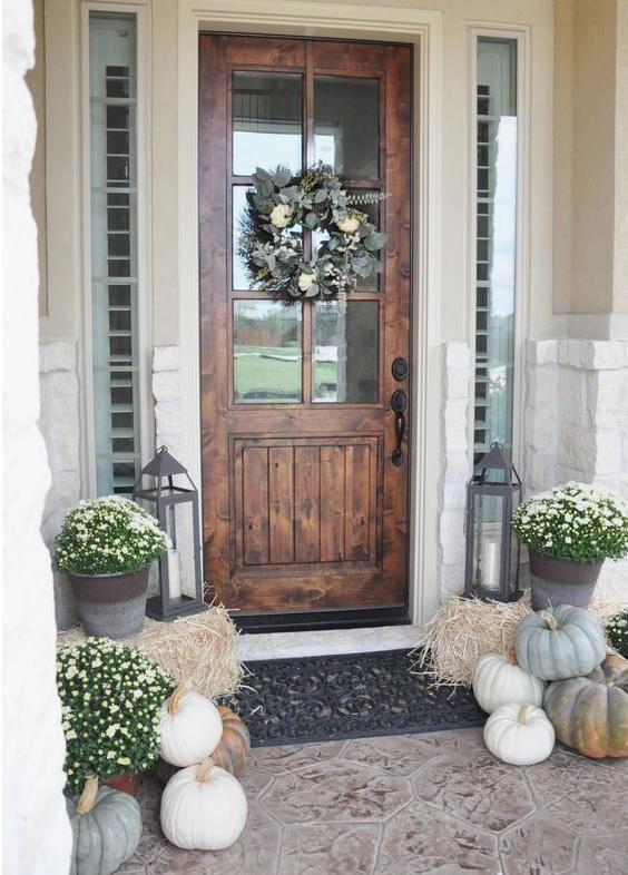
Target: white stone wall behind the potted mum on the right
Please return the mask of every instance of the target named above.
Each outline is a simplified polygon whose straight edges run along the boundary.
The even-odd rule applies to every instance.
[[[527,494],[579,480],[628,500],[628,341],[529,341],[527,362]],[[628,560],[597,593],[628,602]]]

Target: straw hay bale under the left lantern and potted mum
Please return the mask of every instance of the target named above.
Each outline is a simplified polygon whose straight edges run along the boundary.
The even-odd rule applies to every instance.
[[[57,647],[85,639],[81,627],[59,632]],[[238,632],[223,607],[171,622],[146,619],[138,636],[124,643],[153,657],[177,681],[188,680],[193,689],[215,699],[230,696],[242,687],[244,668],[238,658]]]

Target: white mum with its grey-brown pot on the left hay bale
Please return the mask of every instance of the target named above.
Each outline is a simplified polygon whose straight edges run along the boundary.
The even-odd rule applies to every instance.
[[[87,635],[127,638],[141,631],[150,564],[167,548],[157,520],[128,499],[81,501],[69,511],[55,563],[72,583]]]

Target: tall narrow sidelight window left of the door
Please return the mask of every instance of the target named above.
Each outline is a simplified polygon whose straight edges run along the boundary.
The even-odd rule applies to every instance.
[[[98,494],[139,471],[136,17],[89,16],[94,433]]]

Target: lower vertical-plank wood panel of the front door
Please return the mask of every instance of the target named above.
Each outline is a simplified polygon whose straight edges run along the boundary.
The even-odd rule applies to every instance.
[[[318,441],[235,439],[234,544],[243,570],[374,567],[377,439]]]

